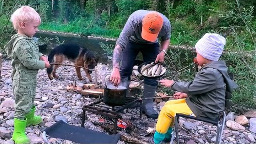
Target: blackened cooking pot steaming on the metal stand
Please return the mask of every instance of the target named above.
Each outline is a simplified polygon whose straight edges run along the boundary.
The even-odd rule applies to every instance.
[[[109,106],[122,106],[126,102],[127,88],[124,86],[115,87],[106,85],[104,88],[103,101]]]

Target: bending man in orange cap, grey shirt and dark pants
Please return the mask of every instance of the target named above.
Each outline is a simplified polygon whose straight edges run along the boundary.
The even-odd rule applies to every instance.
[[[113,70],[110,81],[114,86],[130,81],[132,68],[139,52],[144,62],[164,62],[164,55],[170,43],[171,25],[163,14],[156,11],[138,10],[129,16],[113,52]],[[161,47],[158,43],[161,38]],[[119,62],[122,65],[119,67]],[[127,82],[127,87],[129,82]],[[156,79],[144,80],[143,97],[154,97]],[[143,101],[143,111],[149,118],[156,119],[158,113],[153,109],[153,99]]]

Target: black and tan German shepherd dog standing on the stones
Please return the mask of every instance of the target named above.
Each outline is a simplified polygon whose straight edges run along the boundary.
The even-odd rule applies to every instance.
[[[99,58],[96,58],[90,50],[86,48],[81,48],[78,44],[65,43],[60,46],[55,47],[50,51],[48,56],[48,61],[50,63],[63,63],[64,60],[69,60],[77,66],[82,66],[89,69],[94,69],[98,64]],[[50,80],[54,78],[59,78],[56,75],[56,70],[60,65],[51,65],[50,68],[47,68],[47,74]],[[84,80],[81,76],[81,68],[75,67],[76,75],[80,80]],[[92,70],[84,69],[86,76],[90,81],[92,81],[91,73]],[[52,77],[53,76],[53,77]]]

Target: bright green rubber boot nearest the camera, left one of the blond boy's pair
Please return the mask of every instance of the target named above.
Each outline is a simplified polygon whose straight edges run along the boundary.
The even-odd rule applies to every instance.
[[[14,118],[14,133],[12,134],[12,140],[15,144],[29,144],[30,140],[25,134],[27,119],[20,120]]]

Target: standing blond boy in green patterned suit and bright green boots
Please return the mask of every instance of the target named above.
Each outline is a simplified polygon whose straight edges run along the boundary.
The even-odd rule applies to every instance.
[[[38,52],[33,40],[41,18],[30,6],[22,6],[11,15],[17,34],[5,45],[7,55],[12,58],[12,86],[15,96],[14,133],[15,143],[30,143],[25,134],[26,126],[37,125],[41,116],[34,115],[33,105],[36,96],[37,73],[39,69],[49,68],[47,58]]]

